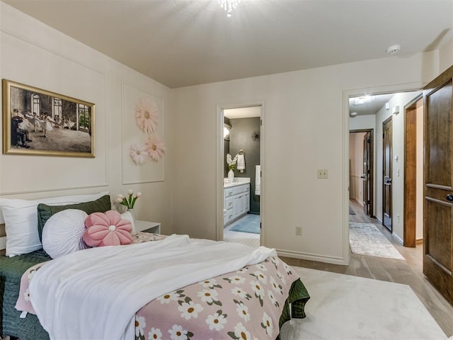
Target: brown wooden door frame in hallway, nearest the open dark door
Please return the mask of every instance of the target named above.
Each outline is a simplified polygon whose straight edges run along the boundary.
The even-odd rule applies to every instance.
[[[417,149],[416,105],[423,100],[423,93],[404,106],[404,205],[403,205],[403,246],[417,245]],[[423,113],[422,113],[423,114]],[[412,115],[411,117],[409,115]],[[413,118],[415,123],[410,119]],[[423,145],[423,140],[421,141]]]

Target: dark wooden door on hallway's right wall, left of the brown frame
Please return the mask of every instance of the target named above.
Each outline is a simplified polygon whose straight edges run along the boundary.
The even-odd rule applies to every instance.
[[[391,117],[382,123],[382,225],[391,231]]]

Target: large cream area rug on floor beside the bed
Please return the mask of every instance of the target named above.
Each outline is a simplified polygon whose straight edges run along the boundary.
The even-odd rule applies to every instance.
[[[310,294],[305,319],[282,326],[282,340],[445,340],[408,285],[294,267]]]

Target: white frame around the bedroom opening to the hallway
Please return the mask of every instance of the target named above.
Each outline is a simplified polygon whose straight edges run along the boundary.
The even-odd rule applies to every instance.
[[[389,94],[391,92],[420,91],[424,84],[421,81],[405,84],[391,84],[386,86],[372,86],[358,89],[343,90],[343,142],[342,142],[342,171],[343,171],[343,259],[348,266],[350,260],[349,247],[349,97],[363,96],[364,94]],[[351,118],[357,119],[357,118]]]

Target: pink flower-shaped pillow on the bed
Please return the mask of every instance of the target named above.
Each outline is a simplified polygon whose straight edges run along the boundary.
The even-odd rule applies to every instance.
[[[88,246],[119,246],[131,244],[132,224],[122,220],[120,212],[93,212],[85,220],[84,242]]]

